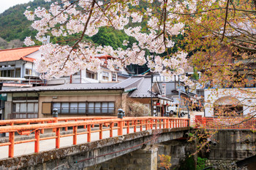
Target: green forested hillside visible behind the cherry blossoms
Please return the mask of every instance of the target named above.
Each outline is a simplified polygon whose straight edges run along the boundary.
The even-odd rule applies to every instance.
[[[35,9],[37,7],[48,8],[50,3],[46,3],[44,0],[34,0],[27,4],[18,4],[14,7],[10,7],[5,12],[0,14],[0,48],[12,48],[12,47],[22,47],[23,40],[26,36],[35,36],[37,31],[31,27],[31,21],[27,20],[23,13],[26,7],[31,7]],[[74,39],[78,35],[72,35],[72,37],[58,37],[56,39],[50,36],[50,42],[53,43],[68,43],[67,39]],[[114,49],[118,47],[124,47],[122,45],[124,39],[129,40],[129,42],[135,42],[135,39],[129,38],[124,31],[113,30],[113,28],[100,28],[99,33],[92,37],[85,37],[96,45],[110,45]],[[40,42],[36,42],[40,45]]]

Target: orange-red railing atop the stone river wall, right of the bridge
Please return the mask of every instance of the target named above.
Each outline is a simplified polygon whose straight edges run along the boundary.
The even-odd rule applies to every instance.
[[[194,128],[256,129],[256,119],[246,117],[195,117],[190,121]]]

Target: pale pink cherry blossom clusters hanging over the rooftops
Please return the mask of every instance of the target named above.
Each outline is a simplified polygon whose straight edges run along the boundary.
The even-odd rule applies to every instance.
[[[45,0],[50,1],[50,0]],[[89,69],[96,71],[102,64],[99,58],[94,58],[98,54],[108,54],[113,59],[108,61],[109,69],[122,69],[129,64],[148,64],[152,72],[160,72],[165,76],[174,76],[184,74],[184,64],[187,63],[187,53],[179,52],[175,56],[160,58],[158,55],[146,56],[146,50],[150,53],[162,54],[167,48],[173,47],[174,42],[171,37],[182,34],[184,23],[178,22],[178,17],[173,14],[167,14],[163,22],[157,15],[157,9],[146,9],[144,14],[136,10],[140,4],[139,0],[79,0],[67,1],[61,0],[53,2],[50,9],[38,7],[34,11],[26,9],[24,15],[29,20],[34,20],[32,27],[38,31],[35,38],[42,42],[42,37],[49,32],[53,36],[67,36],[71,34],[85,34],[94,36],[100,27],[112,26],[115,29],[124,30],[128,36],[133,36],[138,41],[126,50],[113,50],[110,46],[95,47],[88,42],[82,42],[80,39],[75,45],[42,45],[42,58],[37,61],[37,71],[43,73],[42,78],[51,79],[54,77],[66,76],[78,72],[80,69]],[[151,4],[153,1],[144,0],[144,3]],[[189,9],[194,12],[196,1],[184,1]],[[170,11],[181,12],[184,4],[174,4],[172,1],[159,0],[159,7]],[[133,7],[131,9],[131,7]],[[173,8],[172,8],[173,7]],[[180,7],[180,8],[178,8]],[[147,28],[136,26],[127,27],[127,24],[143,22],[144,16],[150,16],[147,19]],[[33,45],[31,37],[27,37],[26,45]],[[128,45],[124,41],[123,45]],[[189,80],[187,80],[189,82]]]

